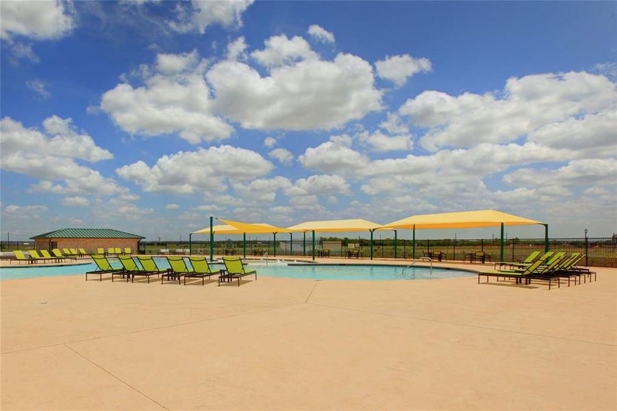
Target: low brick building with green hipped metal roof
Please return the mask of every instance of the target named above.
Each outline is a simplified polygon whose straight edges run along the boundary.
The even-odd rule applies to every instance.
[[[53,232],[30,237],[37,250],[62,248],[84,248],[88,253],[97,252],[97,248],[130,247],[132,253],[138,253],[139,242],[145,237],[137,236],[117,229],[108,228],[63,228]]]

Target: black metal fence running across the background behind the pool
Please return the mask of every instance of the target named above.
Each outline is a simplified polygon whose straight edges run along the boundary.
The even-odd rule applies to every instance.
[[[307,238],[302,240],[277,240],[276,247],[273,240],[247,240],[247,256],[311,256],[312,242]],[[34,242],[1,241],[1,251],[34,249]],[[191,250],[193,254],[209,254],[210,242],[193,241],[141,241],[139,252],[143,254],[185,253]],[[551,251],[586,254],[585,265],[588,266],[617,266],[617,238],[551,238]],[[186,251],[185,251],[186,250]],[[370,240],[365,238],[342,238],[340,240],[323,240],[319,238],[315,244],[316,254],[330,257],[370,257]],[[412,240],[399,239],[394,247],[394,239],[373,240],[374,258],[420,258],[429,252],[441,251],[445,260],[462,261],[468,253],[483,251],[492,261],[499,260],[499,238],[416,240],[414,247]],[[544,238],[510,238],[504,245],[504,258],[508,261],[524,260],[533,251],[544,251]],[[242,240],[214,241],[216,255],[234,254],[242,256],[244,249]]]

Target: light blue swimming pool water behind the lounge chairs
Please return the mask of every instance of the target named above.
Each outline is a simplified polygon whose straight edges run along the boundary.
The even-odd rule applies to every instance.
[[[168,269],[166,258],[154,259],[161,269]],[[120,267],[118,260],[110,258],[114,267]],[[223,264],[210,264],[212,269],[222,269]],[[353,265],[353,264],[291,264],[249,262],[250,269],[259,275],[269,277],[309,278],[309,279],[438,279],[474,275],[469,271],[453,269],[436,269],[428,267],[410,267],[403,272],[402,266]],[[95,271],[96,265],[79,264],[69,266],[27,266],[0,269],[0,279],[20,279],[34,277],[53,277],[58,275],[84,275],[86,271]]]

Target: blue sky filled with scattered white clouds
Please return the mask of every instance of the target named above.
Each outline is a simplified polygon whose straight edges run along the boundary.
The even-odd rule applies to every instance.
[[[617,232],[617,3],[1,7],[3,238],[483,208]]]

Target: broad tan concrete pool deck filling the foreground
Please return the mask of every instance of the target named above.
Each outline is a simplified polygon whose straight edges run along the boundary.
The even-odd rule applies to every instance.
[[[594,271],[550,291],[473,275],[4,280],[0,408],[614,410],[617,270]]]

